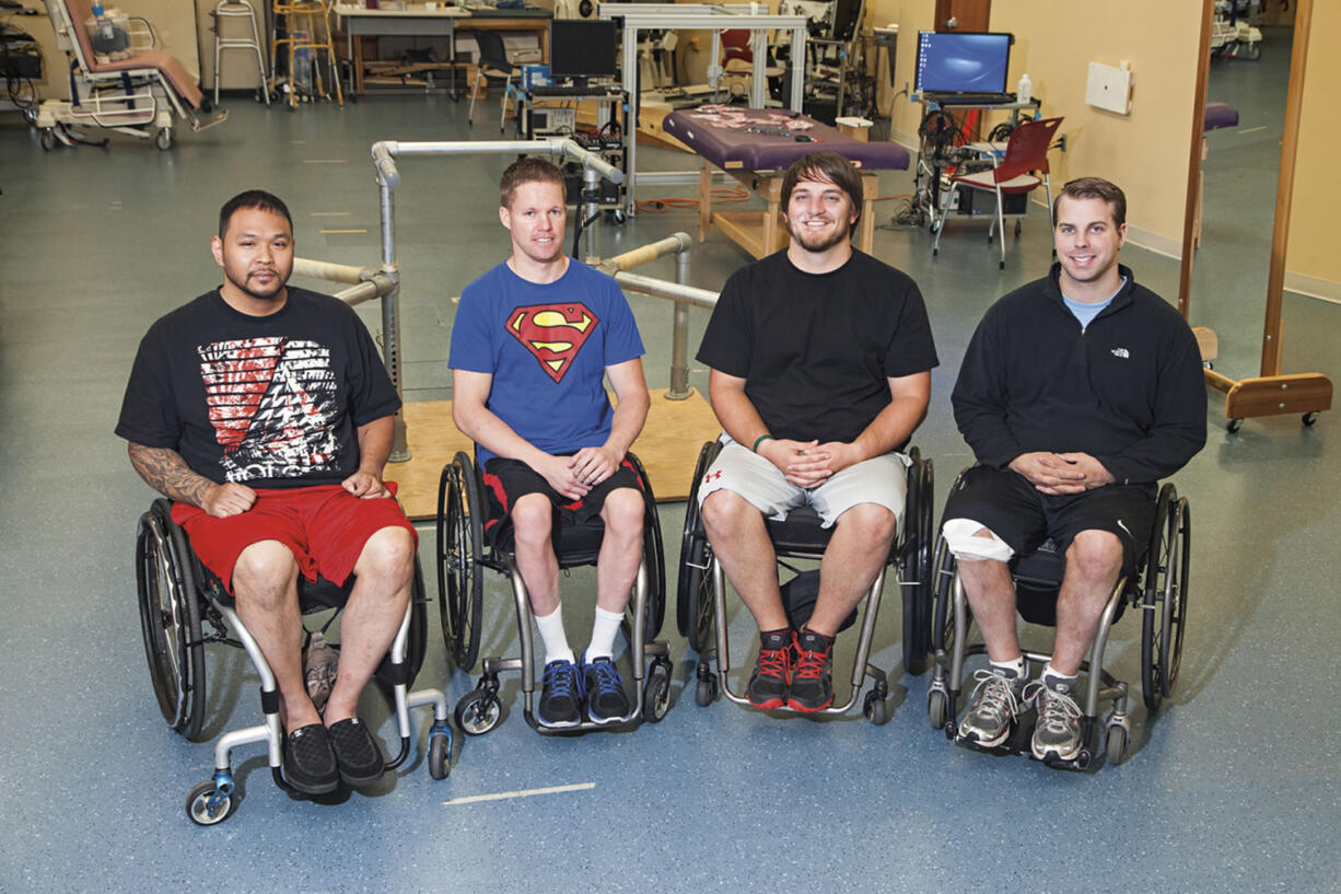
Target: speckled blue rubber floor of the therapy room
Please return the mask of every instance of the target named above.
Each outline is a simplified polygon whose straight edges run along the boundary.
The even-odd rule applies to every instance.
[[[1287,36],[1258,63],[1212,67],[1211,98],[1240,106],[1240,130],[1270,103],[1279,107],[1278,47]],[[1271,78],[1275,99],[1263,83]],[[1063,773],[948,744],[927,721],[929,675],[902,673],[889,584],[873,655],[890,671],[885,726],[857,713],[811,721],[724,701],[697,707],[695,655],[675,632],[672,603],[675,703],[660,725],[542,738],[522,721],[516,675],[504,677],[508,717],[488,736],[457,734],[445,781],[430,780],[421,758],[428,714],[420,710],[414,757],[371,792],[292,800],[272,785],[263,749],[248,746],[235,754],[236,815],[213,828],[190,824],[182,801],[209,777],[213,749],[168,730],[156,709],[133,568],[135,519],[152,494],[113,435],[137,342],[152,319],[217,283],[208,239],[235,192],[284,196],[303,256],[373,266],[369,145],[498,136],[489,125],[471,134],[465,103],[440,94],[296,114],[248,98],[231,105],[228,122],[182,134],[166,153],[123,137],[105,150],[44,153],[17,115],[0,115],[0,891],[1341,890],[1329,695],[1341,632],[1341,483],[1329,463],[1341,460],[1341,421],[1336,413],[1310,428],[1293,416],[1248,420],[1230,435],[1214,392],[1207,447],[1176,478],[1193,513],[1183,674],[1155,717],[1133,698],[1130,754],[1118,766]],[[495,105],[484,109],[496,115]],[[1193,305],[1193,322],[1218,328],[1218,368],[1230,375],[1255,372],[1271,203],[1243,201],[1239,191],[1274,184],[1274,170],[1263,169],[1271,152],[1258,145],[1275,145],[1279,121],[1270,126],[1211,134],[1199,258],[1208,279],[1198,286],[1214,301]],[[693,166],[664,152],[638,157],[644,169]],[[401,162],[408,400],[448,395],[452,297],[507,251],[493,193],[503,161]],[[888,176],[882,192],[909,185]],[[881,221],[890,204],[877,205]],[[622,227],[602,224],[601,250],[695,227],[692,209],[640,213]],[[915,439],[936,463],[937,514],[970,462],[948,401],[968,336],[992,299],[1050,260],[1046,215],[1031,212],[1007,246],[1004,271],[984,236],[947,231],[933,260],[925,228],[876,234],[876,255],[921,285],[940,350],[931,412]],[[1261,272],[1250,264],[1258,255]],[[1175,262],[1132,246],[1122,258],[1139,281],[1176,297]],[[693,285],[717,289],[746,260],[713,234],[695,248]],[[673,263],[642,272],[670,279]],[[670,305],[630,299],[649,384],[665,388]],[[1291,295],[1285,314],[1287,370],[1341,372],[1341,307]],[[365,317],[380,329],[374,309]],[[705,319],[707,311],[691,313],[691,352]],[[705,381],[696,366],[692,383]],[[683,505],[661,506],[672,592],[683,517]],[[432,591],[432,529],[421,533]],[[483,654],[515,654],[507,591],[496,576],[487,584]],[[570,638],[582,647],[593,576],[575,572],[565,593]],[[754,646],[738,604],[731,630],[740,664]],[[839,643],[839,681],[854,638]],[[1134,619],[1114,630],[1109,658],[1136,695]],[[240,652],[212,647],[208,677],[208,733],[256,722],[257,679]],[[445,689],[452,703],[475,682],[445,659],[436,609],[418,682]],[[365,706],[384,738],[393,736],[374,690]],[[565,791],[538,791],[554,787]],[[471,800],[481,796],[493,797]]]

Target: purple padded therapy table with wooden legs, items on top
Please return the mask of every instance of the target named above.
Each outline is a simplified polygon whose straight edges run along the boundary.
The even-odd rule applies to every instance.
[[[779,227],[782,175],[797,158],[830,150],[861,169],[861,220],[857,247],[870,254],[876,220],[872,203],[878,177],[872,170],[904,170],[908,150],[893,142],[864,142],[795,111],[701,106],[665,117],[662,129],[703,157],[699,176],[699,242],[708,224],[735,240],[755,258],[787,244]],[[766,211],[712,211],[712,172],[720,168],[767,203]]]

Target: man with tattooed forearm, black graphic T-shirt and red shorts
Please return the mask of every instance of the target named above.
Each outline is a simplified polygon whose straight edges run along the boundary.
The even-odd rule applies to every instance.
[[[354,311],[287,286],[283,201],[235,196],[211,247],[223,285],[149,329],[117,434],[275,674],[288,783],[311,795],[367,785],[382,754],[358,695],[405,617],[418,542],[382,482],[401,401]],[[357,577],[323,714],[303,679],[298,575]]]

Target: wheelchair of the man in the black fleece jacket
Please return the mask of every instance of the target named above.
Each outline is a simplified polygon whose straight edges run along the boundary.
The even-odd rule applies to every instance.
[[[960,473],[963,475],[963,473]],[[959,485],[956,478],[955,486]],[[1132,725],[1128,717],[1128,685],[1104,668],[1104,651],[1109,631],[1130,607],[1141,613],[1141,697],[1153,714],[1163,701],[1173,694],[1179,664],[1183,656],[1183,632],[1187,619],[1188,564],[1191,561],[1192,515],[1187,498],[1180,498],[1172,483],[1165,483],[1156,498],[1155,524],[1144,554],[1137,558],[1136,572],[1121,576],[1113,587],[1101,616],[1098,634],[1090,647],[1089,660],[1081,663],[1086,674],[1085,698],[1078,699],[1084,745],[1070,761],[1054,754],[1045,760],[1062,769],[1088,769],[1098,753],[1098,728],[1108,730],[1105,756],[1109,764],[1120,764],[1126,756]],[[1049,540],[1027,556],[1016,556],[1010,562],[1015,580],[1016,612],[1030,624],[1053,627],[1057,624],[1057,592],[1061,588],[1066,558],[1057,544]],[[935,671],[927,690],[927,713],[933,729],[944,729],[945,737],[960,741],[956,717],[964,660],[970,655],[983,655],[983,643],[968,636],[972,609],[964,595],[955,565],[955,556],[944,537],[936,545],[936,587],[932,612],[932,647]],[[1026,659],[1043,663],[1051,659],[1046,652],[1022,650]],[[1098,706],[1113,702],[1108,717],[1100,722]],[[999,754],[1025,754],[1033,760],[1027,724],[1016,724],[1011,738],[996,748],[979,749]],[[972,742],[967,742],[978,748]]]

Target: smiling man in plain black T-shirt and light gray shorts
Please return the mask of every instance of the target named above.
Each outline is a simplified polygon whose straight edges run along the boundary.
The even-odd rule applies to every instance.
[[[759,627],[747,698],[819,711],[833,703],[833,642],[880,573],[902,519],[905,459],[937,364],[907,275],[856,251],[861,177],[831,152],[787,170],[784,251],[736,271],[699,348],[724,443],[699,483],[713,554]],[[837,526],[819,596],[794,631],[764,517],[811,506]]]

